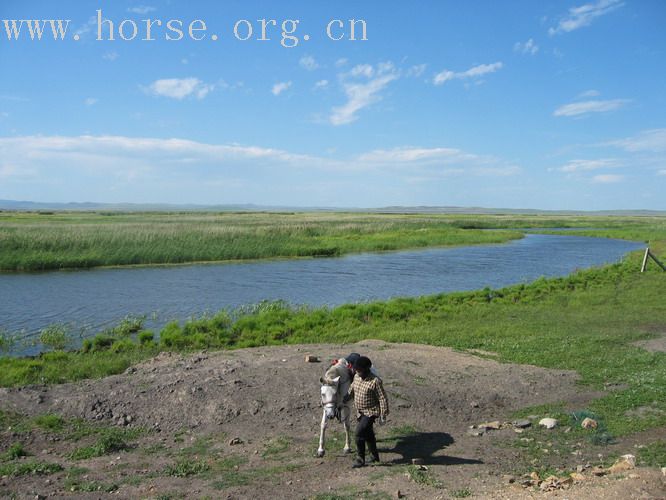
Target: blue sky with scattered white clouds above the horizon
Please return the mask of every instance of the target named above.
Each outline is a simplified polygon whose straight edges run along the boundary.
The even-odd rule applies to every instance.
[[[3,0],[0,199],[665,210],[665,24],[663,0]]]

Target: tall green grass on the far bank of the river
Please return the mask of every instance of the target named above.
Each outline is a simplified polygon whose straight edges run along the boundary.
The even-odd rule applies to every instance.
[[[519,237],[436,215],[0,212],[0,270],[336,256]]]

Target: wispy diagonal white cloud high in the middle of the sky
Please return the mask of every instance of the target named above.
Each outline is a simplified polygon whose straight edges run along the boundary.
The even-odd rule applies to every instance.
[[[332,109],[330,123],[338,126],[356,121],[358,112],[380,101],[381,92],[399,76],[395,66],[390,62],[380,63],[377,67],[359,64],[349,73],[340,75],[347,102]]]

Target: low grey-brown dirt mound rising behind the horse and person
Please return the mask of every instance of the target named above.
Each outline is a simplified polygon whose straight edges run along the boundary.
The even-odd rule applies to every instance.
[[[371,356],[391,396],[396,422],[460,431],[513,410],[579,398],[574,372],[502,364],[451,349],[368,341],[243,349],[180,356],[163,353],[103,380],[10,390],[19,412],[128,423],[176,431],[223,429],[267,434],[286,422],[319,425],[319,377],[351,351]],[[305,353],[322,363],[306,363]]]

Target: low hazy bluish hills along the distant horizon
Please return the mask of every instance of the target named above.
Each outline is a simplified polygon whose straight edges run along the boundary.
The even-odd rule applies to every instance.
[[[624,215],[666,216],[666,210],[539,210],[530,208],[389,206],[379,208],[290,207],[278,205],[197,205],[168,203],[48,203],[0,200],[0,210],[13,211],[117,211],[117,212],[369,212],[391,214],[468,214],[468,215]]]

